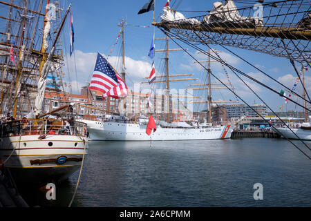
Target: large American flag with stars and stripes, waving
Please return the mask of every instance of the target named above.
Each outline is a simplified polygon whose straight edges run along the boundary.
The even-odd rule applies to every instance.
[[[123,79],[115,73],[100,53],[97,53],[96,64],[89,87],[91,90],[100,90],[103,97],[126,97],[128,88]]]

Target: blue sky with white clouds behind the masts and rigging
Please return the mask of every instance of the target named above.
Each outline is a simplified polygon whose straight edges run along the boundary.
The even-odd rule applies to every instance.
[[[82,1],[75,0],[72,2],[71,11],[73,12],[73,25],[75,30],[75,42],[74,48],[75,52],[72,57],[66,58],[67,67],[66,72],[69,70],[73,93],[79,93],[79,88],[81,86],[86,86],[86,82],[91,81],[91,75],[93,73],[93,68],[95,66],[95,58],[97,52],[103,55],[109,55],[111,50],[111,56],[109,61],[115,68],[120,71],[120,43],[121,37],[117,41],[117,45],[113,48],[113,44],[117,39],[117,35],[120,32],[120,26],[117,26],[122,17],[126,21],[124,41],[125,41],[125,68],[126,68],[126,84],[128,84],[130,90],[134,90],[134,84],[141,81],[146,81],[144,77],[148,77],[151,71],[151,59],[148,57],[149,48],[151,46],[151,39],[153,37],[153,32],[155,32],[156,38],[164,37],[163,33],[151,26],[152,22],[152,12],[146,12],[142,15],[138,15],[138,11],[144,3],[149,0],[136,0],[136,1]],[[68,3],[68,1],[66,2]],[[155,19],[156,21],[161,21],[160,15],[162,15],[162,8],[166,0],[156,1]],[[185,17],[192,17],[194,15],[205,15],[206,10],[211,10],[214,1],[202,1],[202,0],[171,0],[170,5],[173,8],[177,8],[182,11]],[[69,23],[66,23],[69,29]],[[66,32],[66,31],[64,31]],[[68,33],[66,32],[66,35]],[[64,42],[68,45],[69,40]],[[163,40],[156,41],[156,49],[162,49],[165,46]],[[206,59],[205,55],[198,53],[198,51],[190,48],[189,46],[183,45],[187,48],[187,51],[194,55],[197,59]],[[241,59],[238,59],[235,55],[224,50],[220,46],[213,45],[212,48],[220,50],[220,57],[225,59],[228,64],[242,70],[263,82],[268,84],[270,87],[274,88],[276,91],[284,89],[282,86],[275,84],[269,77],[266,77],[258,70],[249,66]],[[69,48],[69,45],[67,46]],[[170,41],[169,48],[178,48],[173,41]],[[265,71],[265,73],[272,76],[274,79],[281,81],[288,88],[292,88],[295,82],[296,73],[290,64],[288,59],[282,57],[272,57],[271,55],[266,55],[260,52],[254,52],[250,50],[243,50],[240,48],[228,47],[230,50],[234,51],[239,56],[247,59],[250,63],[254,64],[257,68]],[[207,49],[207,48],[205,48]],[[67,49],[68,51],[68,49]],[[155,66],[156,73],[162,75],[164,73],[163,68],[163,57],[164,54],[156,53]],[[297,66],[300,70],[300,66]],[[241,81],[232,73],[229,68],[226,68],[227,74],[220,64],[212,63],[211,71],[224,82],[228,82],[227,74],[229,75],[229,81],[234,86],[234,91],[238,96],[241,96],[247,104],[262,104],[263,102],[258,99],[252,92],[243,84]],[[187,78],[198,78],[196,81],[178,81],[177,83],[171,83],[170,88],[179,90],[181,88],[189,88],[189,84],[202,84],[206,77],[206,70],[203,70],[198,64],[194,64],[194,59],[191,59],[186,52],[176,51],[169,52],[169,73],[170,74],[194,74]],[[245,79],[245,77],[243,77]],[[266,88],[259,86],[249,79],[245,79],[247,84],[263,99],[268,106],[271,106],[273,111],[301,111],[302,108],[290,102],[285,105],[285,99],[270,92]],[[215,79],[212,78],[212,83],[217,83]],[[305,71],[305,84],[308,93],[311,92],[311,77],[310,70]],[[157,84],[156,87],[160,88],[162,84]],[[148,93],[150,90],[149,84],[140,85],[140,90],[142,93]],[[302,93],[302,88],[299,83],[296,91]],[[195,91],[194,95],[206,96],[205,92]],[[311,93],[310,93],[311,94]],[[219,100],[236,100],[236,97],[232,95],[228,90],[215,90],[212,93],[212,98],[215,101]],[[296,97],[293,97],[295,100]],[[241,102],[241,99],[238,99]],[[280,107],[283,106],[282,109]],[[206,105],[200,104],[200,109],[206,108]]]

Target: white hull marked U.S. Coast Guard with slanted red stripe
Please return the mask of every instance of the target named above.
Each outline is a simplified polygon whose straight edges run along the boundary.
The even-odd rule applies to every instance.
[[[147,141],[147,140],[213,140],[231,137],[233,126],[212,126],[208,128],[162,128],[147,135],[147,125],[105,122],[90,126],[88,131],[93,140]]]

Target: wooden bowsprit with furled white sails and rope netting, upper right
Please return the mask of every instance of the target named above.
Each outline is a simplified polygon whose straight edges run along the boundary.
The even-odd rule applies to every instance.
[[[263,3],[259,8],[236,8],[233,1],[226,3],[217,7],[214,3],[214,8],[208,15],[176,21],[162,20],[153,25],[176,33],[178,37],[194,44],[214,39],[221,45],[286,57],[303,62],[304,66],[309,65],[309,0],[273,1]]]

